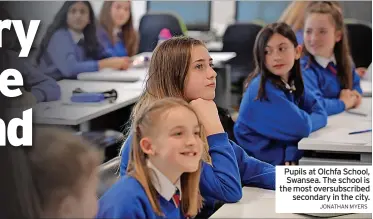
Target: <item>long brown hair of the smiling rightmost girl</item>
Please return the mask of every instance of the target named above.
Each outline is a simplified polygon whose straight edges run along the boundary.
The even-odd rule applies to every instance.
[[[347,30],[343,22],[342,9],[339,4],[331,1],[312,2],[306,10],[305,19],[310,14],[329,14],[334,22],[336,31],[341,31],[342,37],[339,42],[335,43],[334,55],[337,61],[337,77],[341,82],[342,89],[352,89],[352,59],[350,55],[350,47],[348,45]],[[306,31],[306,30],[305,30]],[[307,51],[307,48],[303,49],[304,55],[310,57],[310,62],[314,62],[314,57]]]

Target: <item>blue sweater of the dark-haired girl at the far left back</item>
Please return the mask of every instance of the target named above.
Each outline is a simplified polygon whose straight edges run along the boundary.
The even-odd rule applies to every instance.
[[[102,48],[99,49],[100,59],[109,57]],[[79,73],[99,70],[98,60],[87,57],[83,46],[74,41],[66,28],[53,34],[39,65],[45,74],[55,80],[76,79]]]

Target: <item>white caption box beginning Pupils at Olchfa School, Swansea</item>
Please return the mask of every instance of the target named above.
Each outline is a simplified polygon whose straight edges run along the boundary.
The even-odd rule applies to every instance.
[[[372,213],[371,166],[276,166],[277,213]]]

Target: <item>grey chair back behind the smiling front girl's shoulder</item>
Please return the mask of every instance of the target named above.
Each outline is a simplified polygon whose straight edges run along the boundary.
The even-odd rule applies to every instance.
[[[99,168],[99,184],[97,197],[100,198],[119,179],[120,158],[115,157]]]

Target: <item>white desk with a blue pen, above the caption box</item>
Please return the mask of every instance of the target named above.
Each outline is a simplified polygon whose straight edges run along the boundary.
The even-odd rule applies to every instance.
[[[358,154],[360,159],[304,157],[299,161],[299,165],[371,165],[372,132],[355,136],[348,136],[348,133],[372,127],[372,99],[368,97],[363,98],[359,109],[351,111],[365,113],[368,116],[364,117],[349,112],[329,116],[327,126],[312,133],[308,138],[302,139],[298,144],[298,148],[301,150],[317,151],[321,154]],[[345,144],[341,140],[346,138],[354,138],[353,142],[363,140],[366,143],[361,144],[356,142],[356,144]]]

